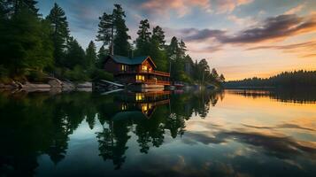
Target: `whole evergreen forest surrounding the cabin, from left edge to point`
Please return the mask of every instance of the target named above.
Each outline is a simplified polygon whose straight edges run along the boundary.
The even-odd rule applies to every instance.
[[[42,17],[35,0],[2,0],[0,3],[0,82],[42,82],[47,77],[67,81],[113,80],[103,70],[104,58],[150,56],[160,71],[171,71],[172,81],[191,84],[220,84],[223,74],[210,68],[206,59],[199,62],[187,54],[185,42],[173,37],[166,43],[162,27],[140,21],[137,38],[132,42],[126,14],[114,4],[112,12],[99,18],[96,39],[87,49],[71,35],[66,12],[54,4]],[[113,34],[113,35],[112,35]],[[96,43],[102,42],[97,50]]]

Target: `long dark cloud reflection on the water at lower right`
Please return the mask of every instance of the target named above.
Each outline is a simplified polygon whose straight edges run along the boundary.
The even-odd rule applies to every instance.
[[[287,136],[266,135],[257,132],[219,130],[217,133],[213,133],[212,136],[207,132],[187,132],[182,142],[219,144],[230,141],[242,142],[261,148],[266,155],[281,159],[304,155],[312,155],[316,158],[316,146],[312,142],[299,142]]]

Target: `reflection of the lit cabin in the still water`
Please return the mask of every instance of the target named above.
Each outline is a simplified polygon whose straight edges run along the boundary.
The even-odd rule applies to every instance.
[[[119,112],[112,119],[149,119],[157,106],[170,103],[169,94],[169,91],[159,91],[118,96]]]

